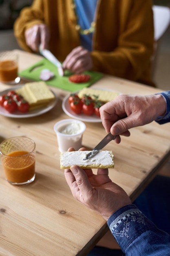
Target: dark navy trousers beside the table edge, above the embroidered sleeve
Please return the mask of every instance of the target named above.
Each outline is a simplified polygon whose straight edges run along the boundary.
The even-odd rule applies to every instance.
[[[133,204],[159,229],[170,234],[170,177],[157,175]]]

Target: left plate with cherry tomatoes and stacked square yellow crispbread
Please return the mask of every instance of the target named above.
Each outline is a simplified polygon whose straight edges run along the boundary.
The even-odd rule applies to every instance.
[[[2,101],[0,101],[0,115],[13,118],[27,118],[42,115],[45,112],[51,110],[57,103],[57,97],[54,92],[46,85],[44,81],[30,82],[24,85],[16,85],[12,88],[0,92],[0,98],[2,97],[10,101],[14,99],[18,104],[19,101],[14,96],[10,99],[9,95],[11,92],[15,92],[17,95],[29,103],[29,110],[21,112],[16,108],[15,111],[9,112],[5,109]],[[9,98],[8,98],[9,97]]]

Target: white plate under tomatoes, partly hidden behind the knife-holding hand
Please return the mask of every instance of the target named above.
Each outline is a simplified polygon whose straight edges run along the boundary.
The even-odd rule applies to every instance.
[[[97,88],[96,88],[97,89]],[[100,90],[103,90],[101,88],[99,88]],[[108,90],[108,91],[113,91],[113,90]],[[77,92],[73,92],[73,93],[78,93]],[[121,93],[119,93],[121,94]],[[62,101],[62,109],[63,111],[69,116],[69,117],[73,117],[75,119],[78,119],[80,121],[84,121],[84,122],[91,122],[91,123],[99,123],[102,122],[100,117],[97,117],[97,115],[92,115],[92,116],[87,116],[84,114],[75,114],[75,112],[73,112],[70,108],[70,104],[68,102],[68,98],[70,97],[70,94],[68,96],[66,96],[63,101]]]

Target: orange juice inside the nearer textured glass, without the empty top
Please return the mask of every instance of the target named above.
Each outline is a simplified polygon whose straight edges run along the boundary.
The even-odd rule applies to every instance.
[[[2,163],[9,182],[26,182],[35,174],[35,157],[27,151],[13,151]]]

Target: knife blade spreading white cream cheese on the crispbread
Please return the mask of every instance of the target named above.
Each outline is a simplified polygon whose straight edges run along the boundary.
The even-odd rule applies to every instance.
[[[106,146],[111,140],[116,139],[116,135],[112,135],[110,132],[104,137],[104,139],[102,139],[99,144],[97,144],[97,146],[95,146],[95,148],[93,148],[91,150],[90,153],[88,153],[86,155],[86,157],[84,157],[83,160],[87,160],[89,159],[89,157],[93,157],[94,155],[96,155],[97,153],[99,153],[99,151],[104,148],[104,146]]]

